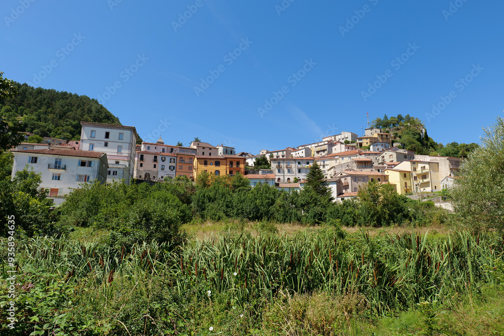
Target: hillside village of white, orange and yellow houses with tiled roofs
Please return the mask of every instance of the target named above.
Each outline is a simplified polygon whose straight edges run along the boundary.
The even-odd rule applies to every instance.
[[[359,185],[373,180],[393,184],[400,194],[439,191],[452,185],[461,160],[401,149],[393,135],[376,127],[366,128],[362,137],[343,131],[317,143],[265,149],[254,155],[200,141],[188,147],[167,145],[161,137],[156,143],[138,145],[134,126],[80,124],[79,141],[46,137],[42,144],[24,142],[13,148],[12,176],[28,165],[41,173],[40,187],[49,190],[55,204],[61,204],[66,194],[85,182],[155,183],[177,176],[194,180],[201,172],[241,174],[251,186],[262,182],[281,190],[299,190],[310,167],[317,163],[333,198],[341,201],[356,197]],[[29,136],[27,133],[25,139]],[[271,168],[254,169],[263,156]]]

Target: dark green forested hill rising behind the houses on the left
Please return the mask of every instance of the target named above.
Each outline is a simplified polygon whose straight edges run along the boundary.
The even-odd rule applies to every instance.
[[[79,140],[81,121],[119,124],[119,119],[95,99],[66,91],[33,88],[15,82],[18,94],[0,101],[9,123],[22,121],[22,131],[41,137]]]

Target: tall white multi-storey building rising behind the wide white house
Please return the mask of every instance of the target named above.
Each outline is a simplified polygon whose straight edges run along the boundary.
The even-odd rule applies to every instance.
[[[79,150],[107,153],[107,182],[124,179],[130,184],[135,169],[135,127],[81,121]]]

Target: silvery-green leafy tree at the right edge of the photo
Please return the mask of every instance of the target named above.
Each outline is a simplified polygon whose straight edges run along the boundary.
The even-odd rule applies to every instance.
[[[472,231],[504,231],[504,119],[489,128],[478,147],[462,161],[450,191],[454,222]],[[446,147],[445,147],[446,148]]]

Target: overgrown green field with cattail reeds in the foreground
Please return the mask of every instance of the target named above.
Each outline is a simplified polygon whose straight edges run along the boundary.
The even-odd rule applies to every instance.
[[[183,229],[190,240],[176,249],[112,251],[106,231],[86,228],[19,242],[18,329],[2,322],[0,333],[504,335],[504,244],[494,233],[242,221]]]

